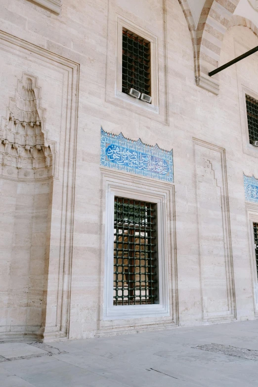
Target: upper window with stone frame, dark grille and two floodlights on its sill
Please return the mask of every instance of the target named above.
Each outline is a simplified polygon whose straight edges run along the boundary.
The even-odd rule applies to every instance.
[[[110,77],[115,75],[115,97],[123,101],[121,106],[139,114],[149,117],[147,110],[159,114],[158,38],[124,18],[117,21],[117,66],[108,67]],[[112,82],[107,87],[108,94],[113,94]]]

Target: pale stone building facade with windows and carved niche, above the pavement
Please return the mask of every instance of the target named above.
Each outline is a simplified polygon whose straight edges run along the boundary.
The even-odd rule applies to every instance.
[[[1,1],[0,340],[258,317],[256,6]]]

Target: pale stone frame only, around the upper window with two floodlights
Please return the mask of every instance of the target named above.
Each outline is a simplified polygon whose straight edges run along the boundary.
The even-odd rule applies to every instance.
[[[151,103],[142,101],[122,92],[122,58],[123,58],[123,28],[126,28],[140,38],[150,42],[150,72],[151,72]],[[146,30],[129,22],[129,20],[117,15],[117,77],[116,97],[133,105],[159,113],[159,79],[158,79],[158,38]]]

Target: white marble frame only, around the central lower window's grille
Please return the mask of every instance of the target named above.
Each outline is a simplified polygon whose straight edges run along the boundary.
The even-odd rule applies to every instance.
[[[129,185],[126,175],[124,178],[122,182],[110,179],[106,181],[103,320],[170,316],[167,193],[155,190],[152,182],[147,179],[142,181],[142,186],[139,187],[133,183]],[[115,196],[157,204],[159,304],[113,305]]]

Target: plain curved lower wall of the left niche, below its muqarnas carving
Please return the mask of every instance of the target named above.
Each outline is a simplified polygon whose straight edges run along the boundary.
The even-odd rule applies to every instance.
[[[44,325],[49,182],[0,180],[4,236],[1,238],[1,332],[38,334]]]

